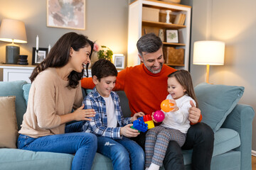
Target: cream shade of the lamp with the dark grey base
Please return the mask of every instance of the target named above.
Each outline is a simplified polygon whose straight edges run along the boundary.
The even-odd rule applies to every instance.
[[[22,21],[3,19],[0,27],[0,40],[5,42],[26,43],[26,28]]]

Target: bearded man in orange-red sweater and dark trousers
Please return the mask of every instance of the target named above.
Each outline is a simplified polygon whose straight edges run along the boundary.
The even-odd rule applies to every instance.
[[[160,38],[149,33],[139,38],[137,49],[143,62],[135,67],[127,67],[117,75],[114,90],[123,90],[129,100],[129,108],[134,113],[150,114],[160,110],[161,101],[166,98],[167,76],[176,69],[164,65],[163,43]],[[92,89],[92,79],[82,79],[82,87]],[[191,103],[189,111],[189,128],[186,142],[182,149],[192,149],[192,169],[210,169],[213,154],[213,130],[201,121],[201,111]],[[134,140],[144,148],[145,133],[141,132]],[[169,147],[164,159],[164,168],[185,169],[181,147],[174,141]]]

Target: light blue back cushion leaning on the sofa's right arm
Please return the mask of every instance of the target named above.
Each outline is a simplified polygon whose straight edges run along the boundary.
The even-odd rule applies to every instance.
[[[227,115],[235,108],[244,92],[242,86],[199,84],[195,87],[198,107],[203,115],[202,122],[216,132]]]

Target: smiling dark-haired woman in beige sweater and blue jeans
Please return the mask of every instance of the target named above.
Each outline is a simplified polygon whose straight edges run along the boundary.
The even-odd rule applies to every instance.
[[[91,169],[97,137],[79,132],[79,123],[66,128],[65,123],[95,116],[94,110],[81,106],[80,83],[84,66],[90,63],[93,45],[84,35],[66,33],[46,60],[33,70],[28,107],[19,131],[19,149],[75,154],[72,169]],[[73,113],[72,108],[76,109]]]

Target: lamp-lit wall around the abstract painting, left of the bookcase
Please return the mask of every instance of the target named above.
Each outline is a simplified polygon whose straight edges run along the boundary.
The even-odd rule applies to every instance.
[[[29,64],[32,62],[32,47],[36,46],[36,35],[39,36],[39,47],[48,47],[49,44],[53,47],[61,35],[71,31],[87,35],[99,45],[110,47],[114,53],[127,56],[127,0],[86,0],[85,30],[47,27],[46,0],[0,0],[0,4],[0,22],[3,18],[11,18],[25,23],[28,43],[18,45],[21,55],[28,55]],[[0,62],[5,62],[7,44],[0,41]]]

